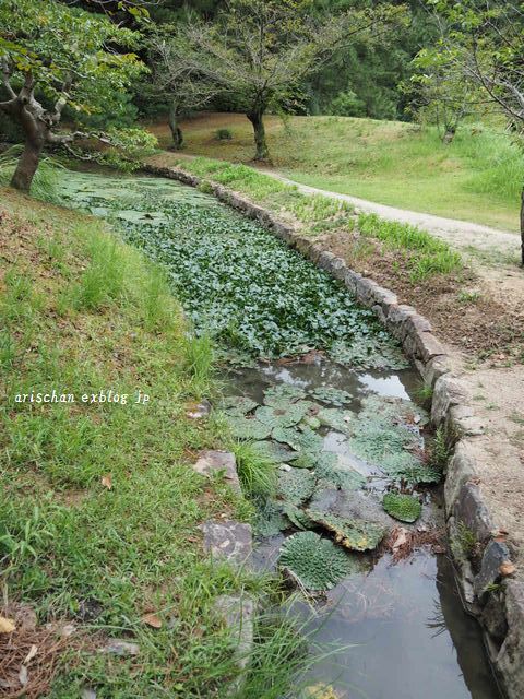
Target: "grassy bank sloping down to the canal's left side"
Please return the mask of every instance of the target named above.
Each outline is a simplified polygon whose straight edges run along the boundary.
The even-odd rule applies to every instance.
[[[222,441],[219,422],[186,415],[212,390],[209,347],[188,342],[158,270],[103,223],[0,191],[0,587],[40,624],[72,619],[90,638],[97,629],[141,645],[136,659],[70,649],[53,699],[84,685],[111,699],[219,696],[234,661],[212,604],[263,582],[211,567],[201,550],[203,520],[251,511],[189,465]],[[151,400],[14,402],[52,388]],[[163,628],[141,620],[152,612]]]

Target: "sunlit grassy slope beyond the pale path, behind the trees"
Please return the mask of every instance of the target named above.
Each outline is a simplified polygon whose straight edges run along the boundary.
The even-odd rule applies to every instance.
[[[524,164],[503,135],[464,128],[443,145],[432,130],[344,117],[267,117],[273,162],[298,182],[371,201],[516,230]],[[241,115],[202,115],[184,125],[187,153],[249,162],[252,133]],[[230,128],[231,141],[217,141]],[[163,146],[164,123],[151,129]]]

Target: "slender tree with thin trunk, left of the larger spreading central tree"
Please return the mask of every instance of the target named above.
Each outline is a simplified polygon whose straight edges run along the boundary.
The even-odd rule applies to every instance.
[[[183,58],[180,60],[186,51],[186,42],[177,27],[166,26],[162,32],[154,31],[147,45],[152,82],[144,87],[168,104],[172,149],[179,151],[183,145],[180,117],[207,105],[221,88],[194,67],[188,66]]]

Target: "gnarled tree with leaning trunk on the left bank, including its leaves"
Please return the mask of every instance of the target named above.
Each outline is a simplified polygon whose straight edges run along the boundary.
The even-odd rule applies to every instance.
[[[0,110],[17,123],[25,146],[11,185],[28,191],[44,147],[93,133],[58,132],[63,109],[103,111],[108,95],[126,91],[145,67],[134,52],[139,35],[108,17],[56,0],[2,0]],[[126,48],[128,52],[118,49]]]

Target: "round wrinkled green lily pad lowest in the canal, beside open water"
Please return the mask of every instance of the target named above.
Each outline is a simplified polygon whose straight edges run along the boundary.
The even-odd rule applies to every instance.
[[[307,590],[330,590],[349,572],[347,554],[314,532],[289,536],[281,547],[281,568]]]

